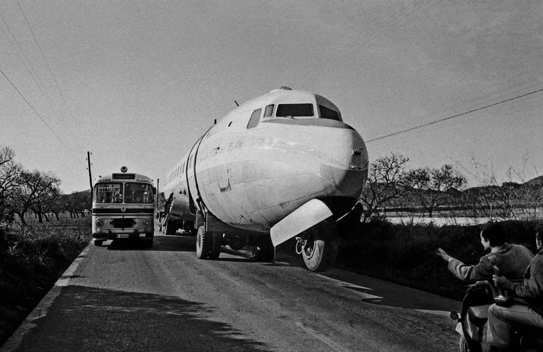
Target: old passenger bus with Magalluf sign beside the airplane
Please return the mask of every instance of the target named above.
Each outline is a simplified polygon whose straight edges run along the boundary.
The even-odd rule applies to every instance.
[[[128,172],[98,176],[92,189],[92,239],[101,246],[105,240],[138,240],[153,246],[154,195],[151,178]]]

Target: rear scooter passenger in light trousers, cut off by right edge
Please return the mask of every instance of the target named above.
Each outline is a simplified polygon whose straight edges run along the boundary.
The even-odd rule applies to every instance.
[[[511,323],[543,329],[543,222],[536,226],[537,254],[526,269],[523,283],[510,282],[504,276],[494,275],[497,286],[509,289],[514,297],[522,298],[526,305],[501,307],[493,304],[488,309],[487,342],[490,351],[507,351],[511,345]]]

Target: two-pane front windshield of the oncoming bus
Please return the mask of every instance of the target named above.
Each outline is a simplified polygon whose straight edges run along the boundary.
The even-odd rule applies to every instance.
[[[147,183],[98,183],[94,186],[94,203],[153,204],[153,186]]]

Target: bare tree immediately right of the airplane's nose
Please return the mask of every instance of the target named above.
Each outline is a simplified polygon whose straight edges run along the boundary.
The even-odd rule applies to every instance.
[[[366,187],[361,202],[364,205],[363,221],[378,215],[381,209],[392,200],[400,199],[405,193],[404,185],[409,158],[391,153],[371,163]]]

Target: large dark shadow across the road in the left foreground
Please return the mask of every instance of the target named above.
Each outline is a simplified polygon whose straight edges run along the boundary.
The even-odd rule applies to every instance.
[[[156,294],[67,286],[18,351],[268,351],[211,307]]]

